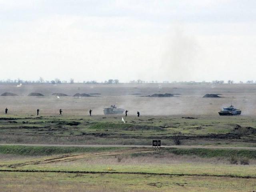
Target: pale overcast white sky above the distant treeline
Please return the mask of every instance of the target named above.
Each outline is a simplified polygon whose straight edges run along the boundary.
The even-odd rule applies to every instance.
[[[0,0],[0,80],[256,80],[254,0]]]

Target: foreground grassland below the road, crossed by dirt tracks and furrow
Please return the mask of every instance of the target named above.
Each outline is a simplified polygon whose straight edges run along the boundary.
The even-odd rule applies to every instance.
[[[200,149],[163,149],[156,155],[147,148],[1,146],[0,188],[3,192],[255,190],[255,151],[204,153]],[[230,164],[227,154],[247,154],[250,164]]]

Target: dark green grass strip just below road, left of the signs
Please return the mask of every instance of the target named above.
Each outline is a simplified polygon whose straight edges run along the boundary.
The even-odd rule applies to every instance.
[[[68,154],[68,153],[92,153],[120,150],[120,147],[54,147],[54,146],[0,146],[2,154],[17,154],[25,156],[44,156],[53,154]]]

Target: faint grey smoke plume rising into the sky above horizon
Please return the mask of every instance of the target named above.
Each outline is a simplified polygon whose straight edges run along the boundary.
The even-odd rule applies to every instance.
[[[185,30],[176,28],[164,42],[164,54],[160,65],[163,79],[189,81],[196,76],[196,67],[202,65],[199,60],[200,46],[193,36]]]

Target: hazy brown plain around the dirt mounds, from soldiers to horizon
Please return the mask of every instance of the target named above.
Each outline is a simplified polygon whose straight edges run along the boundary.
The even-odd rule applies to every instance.
[[[222,84],[214,87],[210,84],[24,84],[16,89],[6,84],[0,87],[0,93],[13,92],[19,96],[1,96],[0,109],[8,107],[10,114],[35,114],[40,109],[41,115],[104,115],[103,108],[115,104],[118,108],[128,110],[128,116],[158,115],[210,115],[218,116],[218,111],[229,106],[230,102],[242,110],[242,115],[255,116],[256,85],[254,84]],[[67,95],[75,93],[100,93],[98,97],[66,96],[60,99],[52,96],[62,92]],[[40,92],[45,96],[29,97],[30,92]],[[174,97],[154,98],[141,97],[152,94],[175,94]],[[202,98],[206,93],[220,94],[221,98]],[[136,94],[136,95],[133,95]],[[176,95],[178,94],[178,95]],[[8,112],[9,112],[8,111]]]

